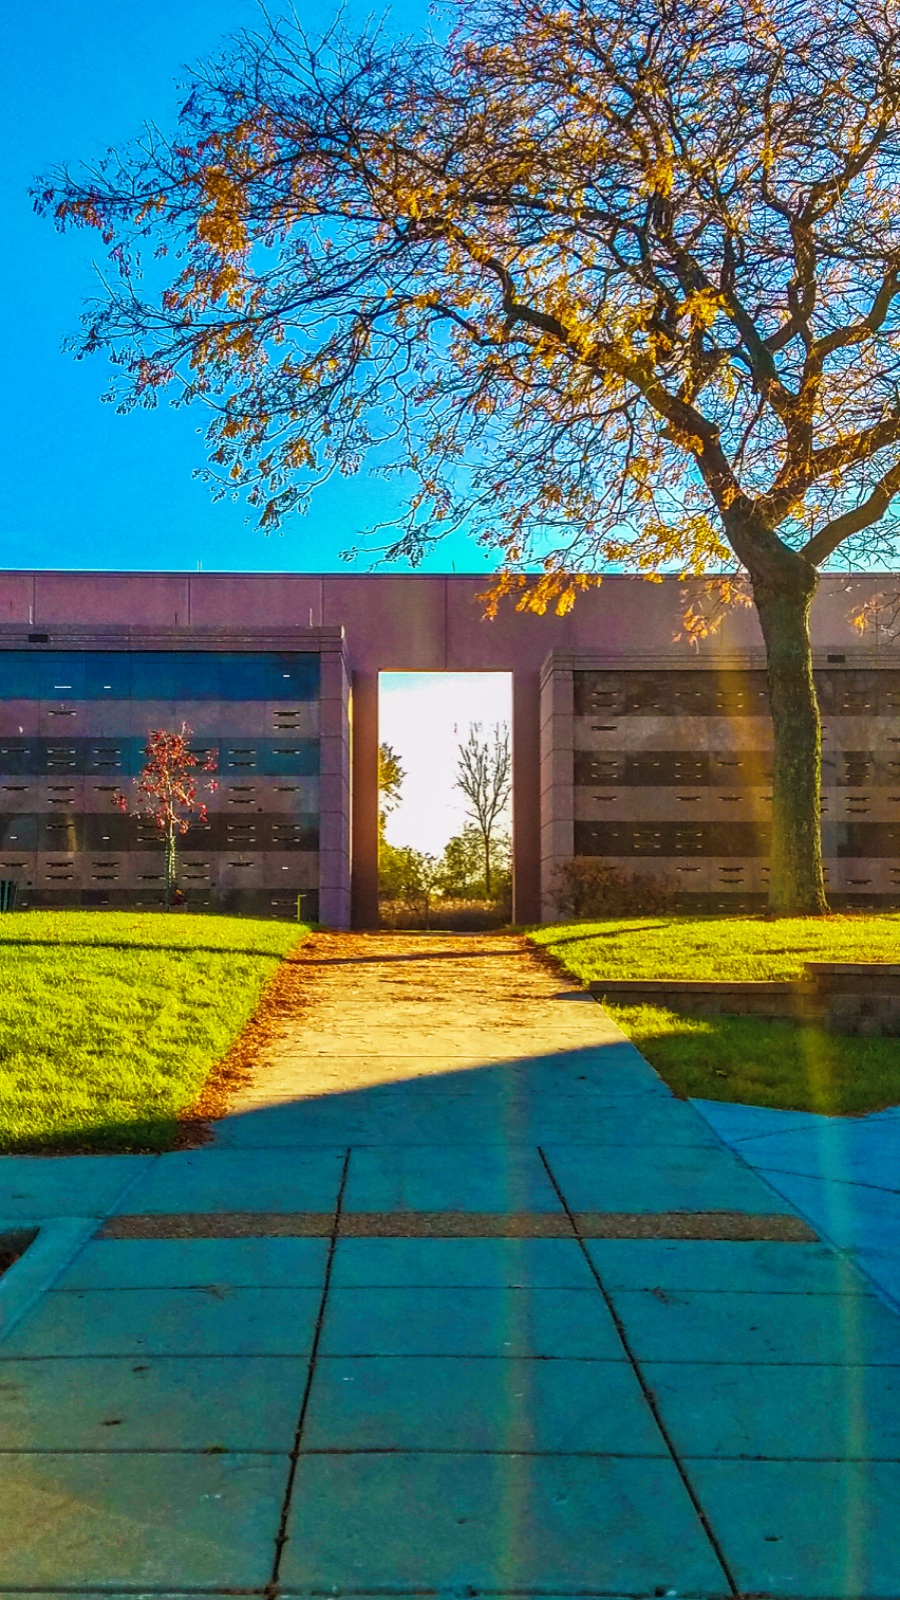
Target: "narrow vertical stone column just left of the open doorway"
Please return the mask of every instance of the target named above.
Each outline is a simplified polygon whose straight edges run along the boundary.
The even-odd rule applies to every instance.
[[[343,629],[322,638],[319,699],[319,922],[351,925],[351,734]]]

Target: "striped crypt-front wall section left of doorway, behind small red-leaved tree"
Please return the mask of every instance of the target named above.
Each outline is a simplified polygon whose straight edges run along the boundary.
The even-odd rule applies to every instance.
[[[162,902],[162,835],[135,814],[133,779],[151,730],[187,726],[213,768],[210,792],[199,774],[207,814],[179,840],[187,902],[348,923],[340,629],[299,640],[29,629],[0,650],[0,877],[19,904]]]

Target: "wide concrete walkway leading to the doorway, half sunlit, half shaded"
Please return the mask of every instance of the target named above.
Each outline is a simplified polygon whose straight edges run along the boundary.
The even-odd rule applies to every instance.
[[[0,1285],[0,1594],[897,1600],[871,1285],[520,941],[309,981],[211,1146],[0,1165],[59,1219]]]

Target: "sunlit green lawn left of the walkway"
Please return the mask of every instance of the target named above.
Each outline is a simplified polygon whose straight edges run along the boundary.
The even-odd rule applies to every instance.
[[[304,934],[163,912],[0,917],[0,1150],[165,1150]]]

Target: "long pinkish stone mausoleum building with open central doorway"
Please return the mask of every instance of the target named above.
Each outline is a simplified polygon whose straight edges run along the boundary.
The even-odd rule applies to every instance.
[[[151,728],[213,752],[181,846],[197,909],[372,926],[378,674],[512,674],[514,915],[552,917],[560,861],[665,875],[685,907],[764,904],[770,730],[762,642],[738,608],[682,635],[677,579],[612,576],[564,618],[484,578],[179,573],[0,576],[0,877],[22,906],[159,906],[157,830],[114,805]],[[884,578],[825,578],[814,608],[834,906],[900,904],[900,643],[852,616]]]

